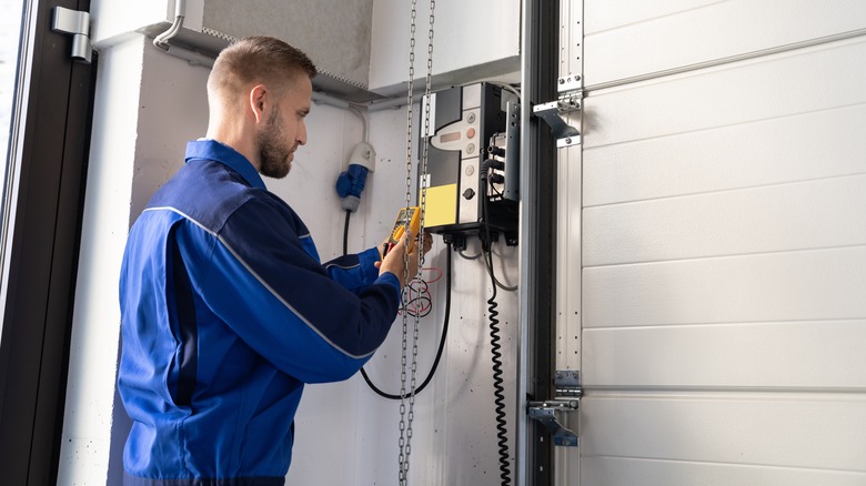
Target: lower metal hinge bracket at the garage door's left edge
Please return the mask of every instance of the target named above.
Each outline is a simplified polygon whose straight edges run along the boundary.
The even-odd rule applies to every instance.
[[[556,413],[565,414],[578,409],[583,395],[580,373],[575,369],[557,371],[554,387],[557,398],[527,404],[530,418],[547,427],[553,435],[554,445],[577,447],[577,434],[562,425]]]

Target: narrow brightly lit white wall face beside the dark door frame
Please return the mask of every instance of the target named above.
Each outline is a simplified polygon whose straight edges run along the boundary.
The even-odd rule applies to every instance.
[[[111,447],[120,310],[129,230],[143,40],[103,50],[97,77],[59,484],[104,484]]]

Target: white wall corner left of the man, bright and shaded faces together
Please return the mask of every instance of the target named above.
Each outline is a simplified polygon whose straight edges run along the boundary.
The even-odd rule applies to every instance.
[[[61,484],[104,483],[127,232],[153,191],[182,164],[187,140],[207,128],[208,71],[164,55],[143,36],[119,39],[100,52]]]

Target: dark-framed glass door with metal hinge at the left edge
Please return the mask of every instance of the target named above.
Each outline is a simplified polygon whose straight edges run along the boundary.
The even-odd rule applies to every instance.
[[[54,10],[90,0],[4,0],[0,9],[0,470],[57,482],[95,60],[73,61]]]

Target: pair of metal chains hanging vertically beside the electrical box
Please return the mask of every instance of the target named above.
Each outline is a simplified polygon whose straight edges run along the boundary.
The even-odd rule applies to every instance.
[[[427,135],[430,134],[430,91],[432,85],[433,74],[433,23],[435,20],[435,0],[430,1],[430,29],[427,31],[427,72],[424,85],[424,134],[421,146],[421,164],[417,178],[421,181],[421,201],[420,201],[420,229],[419,229],[419,265],[417,274],[414,279],[420,279],[421,270],[424,266],[424,216],[426,211],[426,196],[427,196]],[[412,0],[412,13],[409,38],[409,84],[407,84],[407,99],[406,99],[406,194],[405,203],[406,209],[410,207],[412,202],[412,120],[414,118],[413,109],[413,90],[415,79],[415,18],[417,16],[416,0]],[[405,212],[404,224],[409,227],[409,211]],[[409,255],[404,254],[404,276],[405,282],[409,283]],[[416,295],[419,298],[420,295]],[[412,454],[412,422],[414,419],[414,406],[415,406],[415,376],[417,372],[417,341],[419,341],[419,324],[421,315],[414,313],[414,325],[412,330],[412,363],[411,377],[410,377],[410,392],[409,392],[409,412],[406,412],[405,398],[406,398],[406,345],[409,341],[409,323],[407,312],[403,308],[403,342],[401,354],[401,373],[400,373],[400,485],[405,486],[409,482],[409,457]],[[416,306],[417,307],[417,306]]]

